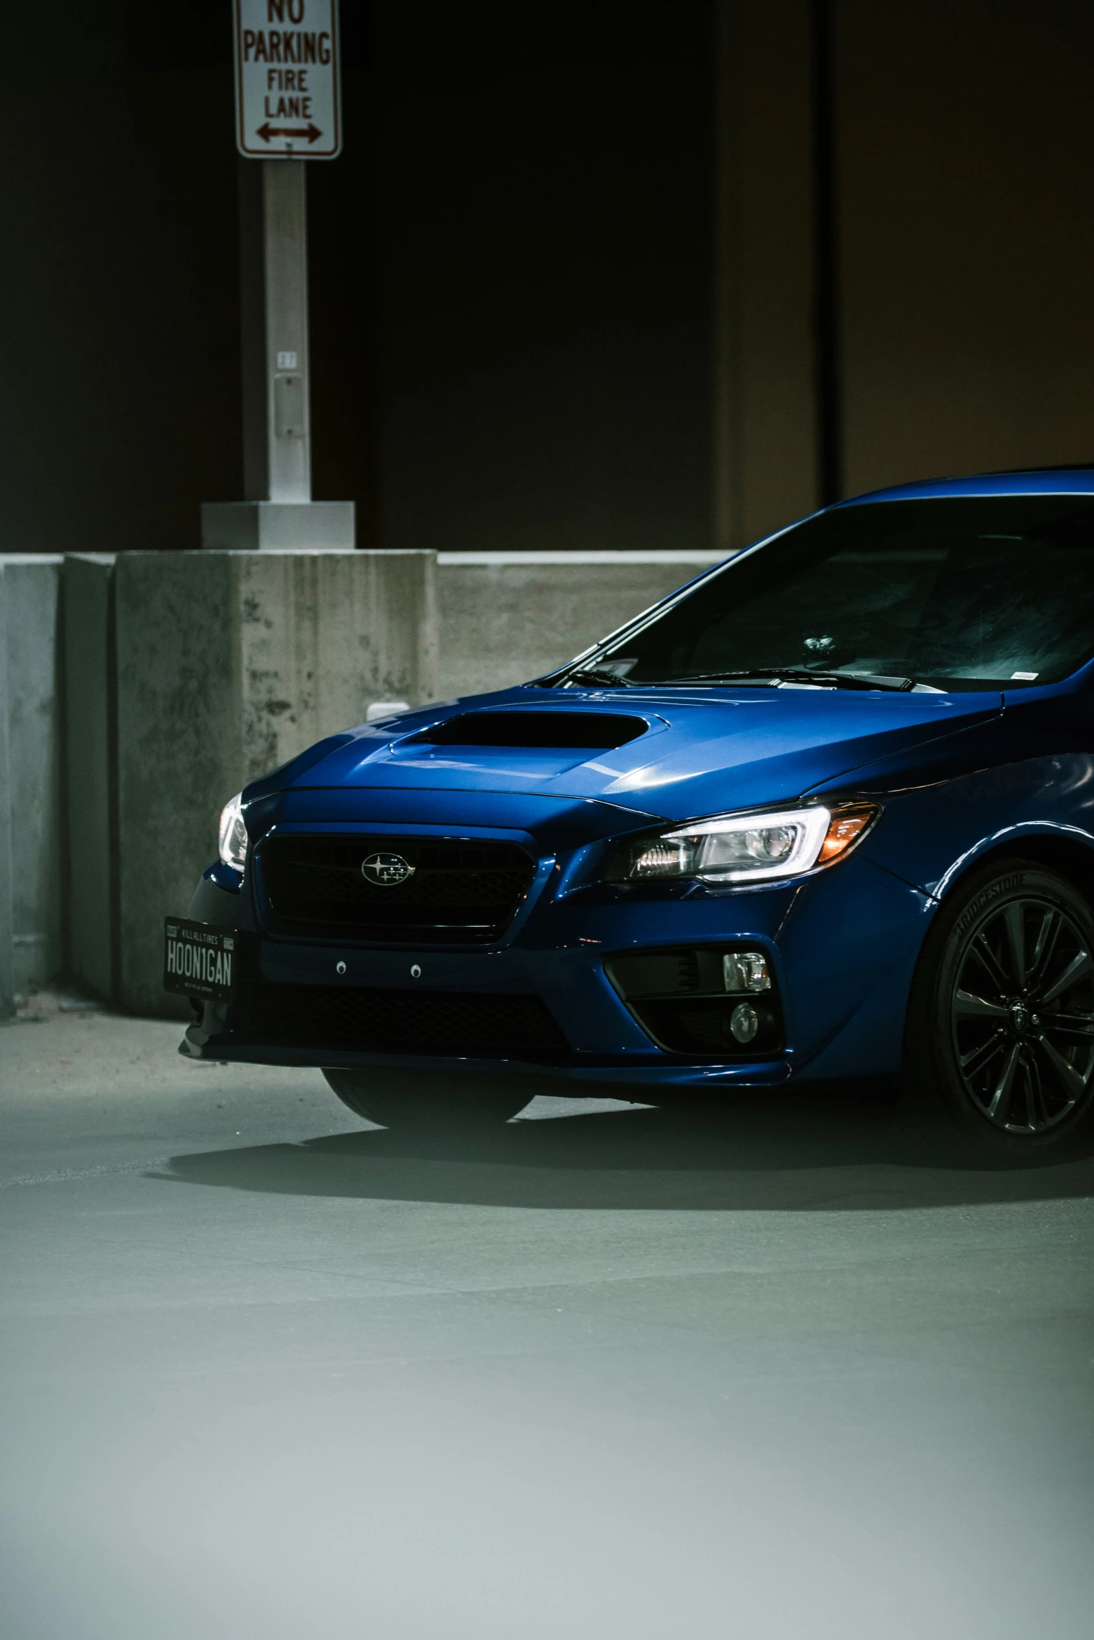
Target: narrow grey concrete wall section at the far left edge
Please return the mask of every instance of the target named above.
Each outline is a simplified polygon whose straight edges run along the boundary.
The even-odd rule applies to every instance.
[[[16,994],[64,966],[64,813],[61,741],[61,558],[0,556],[0,666],[7,802],[0,833],[0,928]],[[3,776],[0,776],[0,781]]]

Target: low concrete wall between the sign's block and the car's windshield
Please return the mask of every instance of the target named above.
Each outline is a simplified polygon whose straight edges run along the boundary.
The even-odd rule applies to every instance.
[[[510,689],[581,654],[717,553],[438,553],[444,697]]]

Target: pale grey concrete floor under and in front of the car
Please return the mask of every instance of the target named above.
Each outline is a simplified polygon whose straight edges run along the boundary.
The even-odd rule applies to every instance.
[[[1094,1163],[0,1030],[3,1640],[1089,1640]]]

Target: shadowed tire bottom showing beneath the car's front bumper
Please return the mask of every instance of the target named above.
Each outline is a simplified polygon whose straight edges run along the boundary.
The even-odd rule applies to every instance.
[[[423,1071],[323,1071],[323,1076],[356,1115],[399,1132],[500,1127],[535,1097],[515,1082],[484,1087]]]

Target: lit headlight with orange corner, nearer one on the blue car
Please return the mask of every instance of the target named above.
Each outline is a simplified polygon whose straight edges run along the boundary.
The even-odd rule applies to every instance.
[[[855,802],[777,813],[718,815],[677,831],[630,843],[612,863],[613,881],[700,877],[704,882],[766,882],[827,866],[855,848],[881,813]]]

